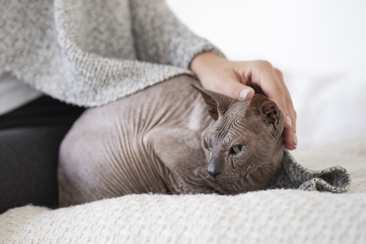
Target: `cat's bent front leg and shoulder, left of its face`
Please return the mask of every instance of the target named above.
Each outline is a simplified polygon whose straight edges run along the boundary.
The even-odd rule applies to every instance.
[[[186,127],[157,127],[143,137],[143,144],[160,169],[167,191],[214,192],[201,147],[201,132]]]

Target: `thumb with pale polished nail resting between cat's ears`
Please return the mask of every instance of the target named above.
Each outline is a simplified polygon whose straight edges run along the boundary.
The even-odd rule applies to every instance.
[[[219,92],[238,101],[250,100],[254,96],[254,89],[252,87],[233,79],[227,80],[223,90]]]

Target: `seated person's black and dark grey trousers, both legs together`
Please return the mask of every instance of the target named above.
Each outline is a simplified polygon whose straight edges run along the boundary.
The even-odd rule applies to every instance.
[[[83,110],[44,96],[0,116],[0,213],[57,205],[59,145]]]

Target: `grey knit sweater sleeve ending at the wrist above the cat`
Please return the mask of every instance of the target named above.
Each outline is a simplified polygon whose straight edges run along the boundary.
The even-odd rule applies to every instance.
[[[223,53],[184,26],[164,0],[130,0],[132,31],[139,60],[189,68],[199,53]]]

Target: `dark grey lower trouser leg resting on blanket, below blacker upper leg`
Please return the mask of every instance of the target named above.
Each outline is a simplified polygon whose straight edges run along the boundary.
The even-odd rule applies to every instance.
[[[67,127],[0,131],[0,213],[28,203],[57,204],[57,157]]]

